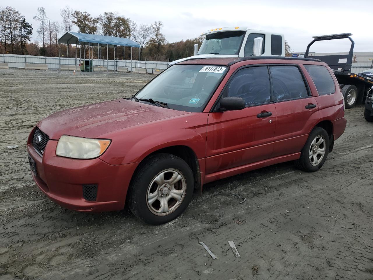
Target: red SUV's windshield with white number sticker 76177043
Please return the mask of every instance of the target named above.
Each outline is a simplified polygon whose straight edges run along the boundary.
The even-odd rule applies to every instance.
[[[173,65],[145,85],[135,97],[140,102],[154,106],[163,104],[154,103],[153,100],[167,103],[170,109],[202,112],[227,68],[217,65]]]

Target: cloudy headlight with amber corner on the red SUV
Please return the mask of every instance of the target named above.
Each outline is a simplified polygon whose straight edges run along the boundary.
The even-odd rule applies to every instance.
[[[108,139],[89,139],[62,135],[58,140],[56,155],[67,158],[90,159],[102,155],[111,140]]]

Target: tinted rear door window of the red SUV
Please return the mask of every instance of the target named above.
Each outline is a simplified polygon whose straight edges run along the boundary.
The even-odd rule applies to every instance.
[[[307,88],[297,66],[270,66],[275,101],[307,97]]]

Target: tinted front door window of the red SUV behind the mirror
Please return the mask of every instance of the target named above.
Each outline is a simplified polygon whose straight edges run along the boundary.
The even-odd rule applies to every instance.
[[[267,66],[248,67],[236,72],[223,96],[242,97],[246,106],[271,101]]]

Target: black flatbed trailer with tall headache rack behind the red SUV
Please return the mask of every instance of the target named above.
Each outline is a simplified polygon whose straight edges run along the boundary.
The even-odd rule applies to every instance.
[[[332,71],[337,78],[339,87],[341,88],[342,94],[345,99],[345,107],[347,109],[352,108],[355,103],[364,103],[367,97],[367,93],[373,86],[373,78],[365,75],[363,73],[352,73],[352,56],[354,54],[354,40],[351,39],[351,33],[333,34],[333,35],[323,35],[314,36],[314,40],[308,44],[307,50],[304,57],[317,58],[325,62],[330,66]],[[325,40],[336,40],[345,39],[351,41],[351,48],[348,55],[326,55],[326,56],[309,56],[308,52],[310,46],[316,41]]]

